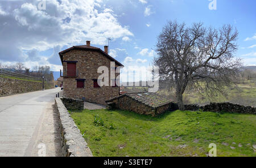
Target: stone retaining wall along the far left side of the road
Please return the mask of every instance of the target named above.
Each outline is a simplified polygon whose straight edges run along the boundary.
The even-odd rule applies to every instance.
[[[41,90],[42,82],[0,77],[0,96]]]

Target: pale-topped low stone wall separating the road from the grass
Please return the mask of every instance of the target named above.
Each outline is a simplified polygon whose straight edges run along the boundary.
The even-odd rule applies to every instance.
[[[64,156],[93,156],[90,148],[82,137],[79,128],[76,126],[60,98],[55,98],[55,107],[60,118]]]

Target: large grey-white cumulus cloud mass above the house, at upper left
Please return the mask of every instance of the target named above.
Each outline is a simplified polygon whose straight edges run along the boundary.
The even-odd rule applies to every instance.
[[[38,1],[0,1],[0,60],[35,61],[38,51],[53,49],[46,58],[49,64],[60,64],[57,50],[63,46],[105,45],[107,38],[127,40],[134,36],[122,26],[113,10],[101,6],[100,0],[46,1],[39,10]],[[2,7],[8,6],[3,11]],[[34,56],[33,56],[34,55]]]

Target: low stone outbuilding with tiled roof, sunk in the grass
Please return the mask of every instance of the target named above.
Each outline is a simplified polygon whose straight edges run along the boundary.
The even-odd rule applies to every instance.
[[[171,100],[150,92],[125,93],[107,100],[106,104],[113,109],[134,111],[152,117],[171,110],[174,105]]]

